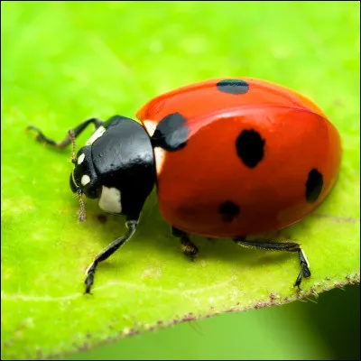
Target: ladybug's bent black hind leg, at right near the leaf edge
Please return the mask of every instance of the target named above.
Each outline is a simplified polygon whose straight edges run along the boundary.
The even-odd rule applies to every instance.
[[[297,252],[299,254],[301,272],[298,275],[294,286],[297,286],[300,290],[300,284],[303,277],[310,277],[310,264],[307,260],[306,255],[301,249],[301,245],[298,243],[277,243],[277,242],[250,242],[245,241],[244,238],[234,239],[237,245],[242,245],[244,247],[266,249],[270,251],[288,251],[288,252]]]

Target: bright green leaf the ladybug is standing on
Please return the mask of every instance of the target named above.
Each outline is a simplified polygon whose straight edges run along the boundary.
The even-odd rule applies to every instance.
[[[61,356],[359,282],[358,3],[2,2],[1,9],[2,358]],[[24,128],[61,139],[89,116],[132,116],[162,91],[222,76],[294,88],[341,134],[342,168],[329,198],[298,224],[265,235],[301,242],[312,272],[303,291],[292,287],[295,255],[194,237],[200,253],[190,263],[153,194],[139,232],[98,267],[94,295],[83,295],[86,267],[125,232],[124,220],[99,217],[88,200],[88,220],[79,224],[69,151],[44,148]]]

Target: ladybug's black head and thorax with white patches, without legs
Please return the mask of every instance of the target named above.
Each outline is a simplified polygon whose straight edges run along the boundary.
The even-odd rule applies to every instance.
[[[79,150],[74,164],[73,192],[99,199],[106,212],[139,218],[155,182],[153,147],[142,125],[113,116]]]

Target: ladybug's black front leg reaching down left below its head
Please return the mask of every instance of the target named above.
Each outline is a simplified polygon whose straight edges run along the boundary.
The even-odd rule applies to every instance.
[[[94,283],[94,274],[96,273],[97,264],[99,262],[106,260],[106,258],[108,258],[110,255],[113,255],[121,245],[124,245],[125,242],[134,235],[137,226],[137,221],[128,220],[125,222],[125,226],[128,228],[128,232],[125,234],[125,236],[121,236],[120,238],[117,238],[114,242],[112,242],[110,245],[107,245],[106,248],[103,249],[103,251],[101,251],[98,255],[96,255],[92,264],[88,266],[86,272],[87,278],[85,280],[85,284],[87,285],[87,288],[85,290],[86,293],[90,293],[90,288]]]

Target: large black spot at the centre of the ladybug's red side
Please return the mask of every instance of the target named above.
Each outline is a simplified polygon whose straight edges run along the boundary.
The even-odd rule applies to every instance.
[[[255,130],[244,130],[236,139],[236,153],[249,168],[264,159],[264,139]]]

